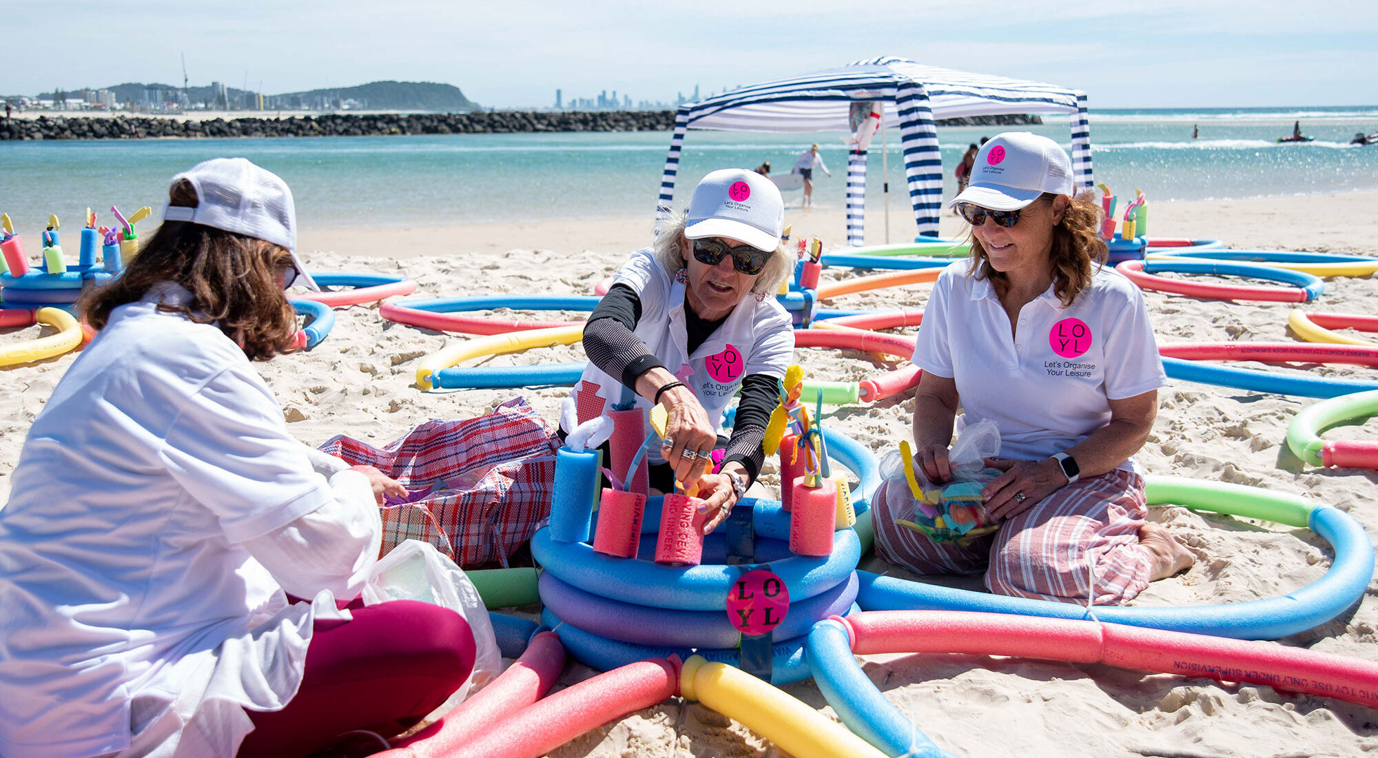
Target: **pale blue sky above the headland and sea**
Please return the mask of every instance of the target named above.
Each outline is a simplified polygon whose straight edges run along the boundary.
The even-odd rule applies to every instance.
[[[1323,10],[1316,10],[1316,8]],[[672,102],[863,58],[1083,90],[1096,107],[1378,105],[1372,0],[7,0],[0,94],[440,81],[488,107]],[[26,62],[17,65],[17,62]]]

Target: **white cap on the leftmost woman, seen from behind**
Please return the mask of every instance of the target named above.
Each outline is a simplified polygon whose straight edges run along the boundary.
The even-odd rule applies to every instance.
[[[189,221],[284,247],[296,267],[288,285],[321,291],[296,256],[296,205],[281,176],[248,158],[211,158],[172,176],[172,185],[182,179],[196,189],[197,205],[172,205],[169,200],[163,221]]]

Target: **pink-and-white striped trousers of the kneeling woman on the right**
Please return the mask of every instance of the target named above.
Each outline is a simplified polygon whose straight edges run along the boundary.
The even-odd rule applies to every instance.
[[[1144,477],[1113,470],[1076,481],[1000,529],[967,546],[934,543],[900,526],[886,504],[890,480],[872,500],[875,551],[883,561],[921,575],[985,572],[995,594],[1118,605],[1148,587],[1153,557],[1138,543],[1146,503]]]

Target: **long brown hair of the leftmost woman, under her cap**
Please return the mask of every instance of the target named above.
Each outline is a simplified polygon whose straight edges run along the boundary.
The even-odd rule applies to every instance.
[[[197,205],[196,189],[186,179],[168,194],[172,205]],[[266,361],[295,349],[296,314],[282,294],[282,273],[291,266],[292,254],[273,243],[165,221],[120,276],[84,295],[77,307],[101,329],[116,307],[142,300],[158,283],[174,281],[192,294],[190,302],[160,303],[158,310],[214,322],[249,360]]]

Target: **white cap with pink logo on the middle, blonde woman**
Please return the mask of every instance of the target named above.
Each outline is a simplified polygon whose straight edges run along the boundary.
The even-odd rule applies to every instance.
[[[693,190],[685,237],[729,237],[757,249],[780,247],[784,200],[774,182],[744,168],[708,174]]]

